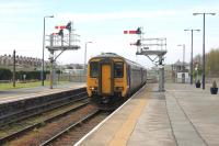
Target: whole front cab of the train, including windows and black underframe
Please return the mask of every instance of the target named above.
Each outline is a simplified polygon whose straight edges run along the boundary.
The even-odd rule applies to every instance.
[[[88,68],[88,93],[101,109],[117,106],[127,96],[127,69],[120,58],[95,58]]]

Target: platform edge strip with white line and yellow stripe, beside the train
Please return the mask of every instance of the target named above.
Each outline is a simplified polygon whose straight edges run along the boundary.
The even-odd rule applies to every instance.
[[[99,125],[82,143],[76,145],[103,146],[126,145],[129,134],[135,128],[137,117],[146,105],[146,90],[129,100],[120,110],[114,112],[107,121]]]

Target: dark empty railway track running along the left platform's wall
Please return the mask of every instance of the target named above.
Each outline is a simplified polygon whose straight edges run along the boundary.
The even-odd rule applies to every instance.
[[[54,94],[54,98],[45,97],[44,99],[38,100],[37,104],[30,103],[30,102],[34,102],[32,100],[23,101],[23,102],[26,102],[26,104],[30,104],[30,106],[22,108],[21,110],[18,110],[11,113],[3,114],[2,112],[0,115],[0,126],[23,121],[31,116],[36,116],[37,114],[41,114],[42,112],[47,112],[47,111],[54,110],[55,108],[65,106],[69,104],[70,102],[80,100],[81,98],[87,98],[87,91],[83,88],[74,90],[71,94],[68,94],[68,93],[66,93],[66,96]]]

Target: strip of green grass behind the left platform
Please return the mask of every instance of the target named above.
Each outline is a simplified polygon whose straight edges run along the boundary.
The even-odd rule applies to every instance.
[[[69,81],[59,81],[58,85],[67,83]],[[44,81],[45,86],[49,86],[49,81]],[[42,81],[34,82],[16,82],[15,87],[13,87],[13,82],[0,83],[0,90],[10,90],[10,89],[19,89],[19,88],[34,88],[42,86]]]

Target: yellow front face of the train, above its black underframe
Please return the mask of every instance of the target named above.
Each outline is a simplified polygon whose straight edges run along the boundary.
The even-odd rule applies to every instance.
[[[128,92],[127,64],[120,58],[113,58],[112,64],[104,64],[101,60],[102,58],[90,60],[90,63],[96,63],[101,67],[97,76],[91,75],[92,68],[90,64],[88,66],[87,90],[89,97],[92,97],[93,93],[97,96],[119,94],[119,97],[126,97]],[[116,71],[117,64],[123,66],[123,71]]]

